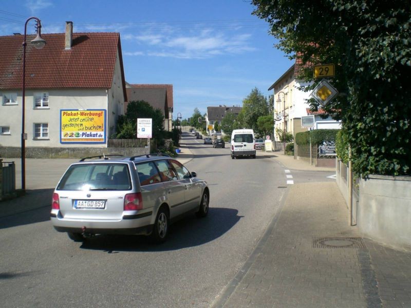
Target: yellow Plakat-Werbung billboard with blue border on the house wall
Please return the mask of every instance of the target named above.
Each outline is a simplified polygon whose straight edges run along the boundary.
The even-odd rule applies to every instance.
[[[105,109],[61,109],[60,143],[105,143]]]

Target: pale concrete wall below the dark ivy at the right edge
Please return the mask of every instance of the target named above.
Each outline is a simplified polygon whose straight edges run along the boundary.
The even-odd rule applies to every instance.
[[[361,180],[358,226],[367,237],[411,248],[411,177]]]

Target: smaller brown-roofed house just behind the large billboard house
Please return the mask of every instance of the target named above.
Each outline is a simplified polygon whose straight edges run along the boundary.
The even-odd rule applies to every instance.
[[[173,125],[173,85],[170,84],[128,84],[126,83],[128,102],[144,101],[154,109],[160,109],[164,115],[164,130],[171,131]]]

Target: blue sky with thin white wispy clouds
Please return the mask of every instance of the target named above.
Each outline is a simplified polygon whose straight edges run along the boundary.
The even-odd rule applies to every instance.
[[[126,81],[172,84],[174,118],[185,119],[195,107],[242,106],[255,87],[272,94],[293,64],[253,9],[248,0],[3,0],[0,35],[24,33],[30,16],[42,33],[63,33],[66,21],[74,32],[120,32]]]

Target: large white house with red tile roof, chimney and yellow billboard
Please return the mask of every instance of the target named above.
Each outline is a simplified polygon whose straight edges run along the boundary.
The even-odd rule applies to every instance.
[[[42,34],[35,49],[26,38],[27,148],[106,147],[127,101],[119,33]],[[19,147],[22,136],[23,40],[0,36],[0,146]]]

